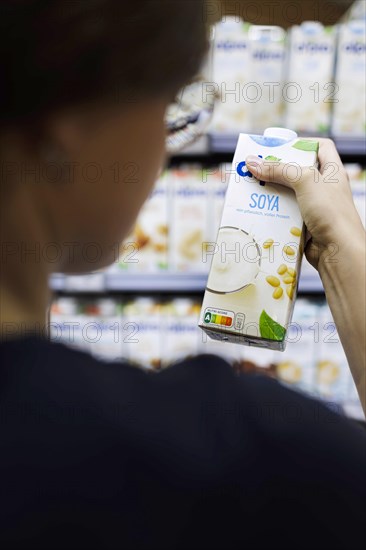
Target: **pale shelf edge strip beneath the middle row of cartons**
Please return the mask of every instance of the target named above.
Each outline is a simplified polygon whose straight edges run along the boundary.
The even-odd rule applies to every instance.
[[[55,292],[159,292],[203,293],[207,282],[205,273],[93,273],[83,276],[54,275],[50,286]],[[323,292],[319,276],[300,279],[299,292]]]

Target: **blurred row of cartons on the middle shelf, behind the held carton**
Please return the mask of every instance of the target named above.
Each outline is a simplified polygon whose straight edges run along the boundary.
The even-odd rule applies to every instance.
[[[365,222],[366,172],[357,164],[346,168]],[[164,172],[109,271],[208,274],[231,170],[230,164],[222,164]],[[303,274],[313,271],[304,259]]]

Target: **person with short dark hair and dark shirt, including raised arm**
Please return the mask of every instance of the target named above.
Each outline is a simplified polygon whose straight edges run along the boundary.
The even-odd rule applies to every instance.
[[[2,3],[4,549],[363,545],[366,439],[345,418],[214,356],[148,376],[40,335],[50,273],[111,263],[146,199],[166,107],[206,50],[202,13],[198,0]],[[365,233],[334,145],[296,182],[257,162],[297,194],[365,405]]]

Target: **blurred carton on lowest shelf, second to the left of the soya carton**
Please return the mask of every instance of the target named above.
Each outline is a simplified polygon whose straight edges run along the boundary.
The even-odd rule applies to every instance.
[[[123,357],[147,369],[161,367],[161,305],[153,298],[136,298],[123,307]]]

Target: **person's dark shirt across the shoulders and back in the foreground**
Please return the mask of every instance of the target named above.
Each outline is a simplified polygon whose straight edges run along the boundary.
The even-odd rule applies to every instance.
[[[0,547],[364,548],[366,437],[215,356],[0,345]]]

